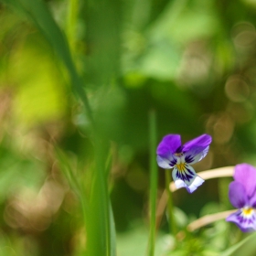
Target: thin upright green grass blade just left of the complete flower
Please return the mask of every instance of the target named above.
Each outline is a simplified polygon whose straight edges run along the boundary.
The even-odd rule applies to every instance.
[[[149,113],[149,141],[150,141],[150,234],[147,255],[155,255],[155,218],[157,196],[157,165],[155,160],[156,149],[156,121],[155,112]]]

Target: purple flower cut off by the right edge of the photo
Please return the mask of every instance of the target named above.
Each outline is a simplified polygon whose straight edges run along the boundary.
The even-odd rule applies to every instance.
[[[234,179],[229,185],[229,200],[239,209],[226,220],[236,223],[243,232],[256,230],[256,168],[236,165]]]

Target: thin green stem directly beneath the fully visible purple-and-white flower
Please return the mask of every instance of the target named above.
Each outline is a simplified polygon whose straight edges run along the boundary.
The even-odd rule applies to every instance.
[[[165,170],[165,189],[167,192],[167,215],[169,219],[169,231],[175,236],[176,235],[176,220],[174,214],[174,203],[173,203],[173,195],[170,190],[171,176],[170,170]]]

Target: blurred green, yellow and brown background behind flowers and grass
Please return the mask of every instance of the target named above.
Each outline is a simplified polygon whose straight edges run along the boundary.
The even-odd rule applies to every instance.
[[[86,237],[78,198],[59,170],[53,144],[86,174],[93,158],[89,119],[66,69],[29,12],[19,1],[4,2],[0,254],[80,255]],[[44,2],[68,38],[100,133],[111,142],[117,255],[144,255],[151,110],[158,142],[167,133],[180,133],[184,143],[202,133],[212,135],[207,157],[194,165],[197,172],[241,162],[256,165],[256,1]],[[159,168],[158,174],[160,198],[164,170]],[[180,225],[232,208],[229,180],[209,180],[192,195],[176,191]],[[225,248],[227,225],[216,225],[183,250]],[[167,229],[164,214],[157,255],[170,243]]]

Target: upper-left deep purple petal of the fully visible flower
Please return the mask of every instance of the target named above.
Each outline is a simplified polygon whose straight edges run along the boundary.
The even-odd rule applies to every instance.
[[[165,158],[174,155],[176,150],[181,147],[181,138],[178,134],[166,135],[156,149],[156,154]]]

